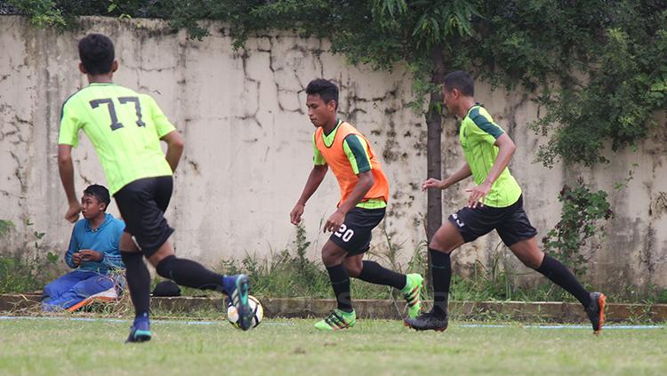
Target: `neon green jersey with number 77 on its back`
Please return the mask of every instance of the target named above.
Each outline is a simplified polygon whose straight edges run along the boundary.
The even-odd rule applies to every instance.
[[[84,87],[62,105],[58,143],[76,148],[82,129],[111,195],[134,180],[172,175],[160,139],[176,128],[149,95],[117,84]]]

